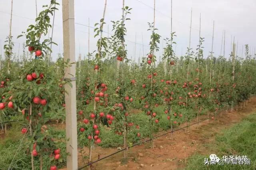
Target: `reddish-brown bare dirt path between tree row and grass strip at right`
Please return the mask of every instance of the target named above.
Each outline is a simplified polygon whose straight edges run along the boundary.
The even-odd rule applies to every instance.
[[[93,164],[94,170],[172,170],[183,168],[186,159],[195,152],[204,153],[207,148],[204,144],[215,140],[216,133],[220,130],[232,126],[239,122],[243,117],[256,111],[256,97],[248,101],[248,105],[242,109],[238,107],[238,111],[222,112],[215,117],[214,120],[202,121],[199,124],[190,126],[180,131],[175,131],[171,134],[164,135],[155,139],[154,149],[148,149],[149,143],[139,145],[129,149],[129,160],[127,164],[122,165],[123,152],[115,154],[109,158],[101,160]],[[207,116],[201,116],[200,120],[206,119]],[[196,119],[189,124],[196,123]],[[180,127],[186,126],[185,124]],[[165,132],[162,132],[165,133]],[[158,133],[160,135],[161,133]],[[116,152],[116,149],[102,149],[96,147],[93,151],[93,160]],[[99,155],[100,154],[100,155]],[[85,149],[83,155],[88,155],[88,149]],[[87,162],[86,162],[87,163]],[[84,162],[79,154],[79,167],[84,166]],[[88,169],[88,168],[84,168]]]

